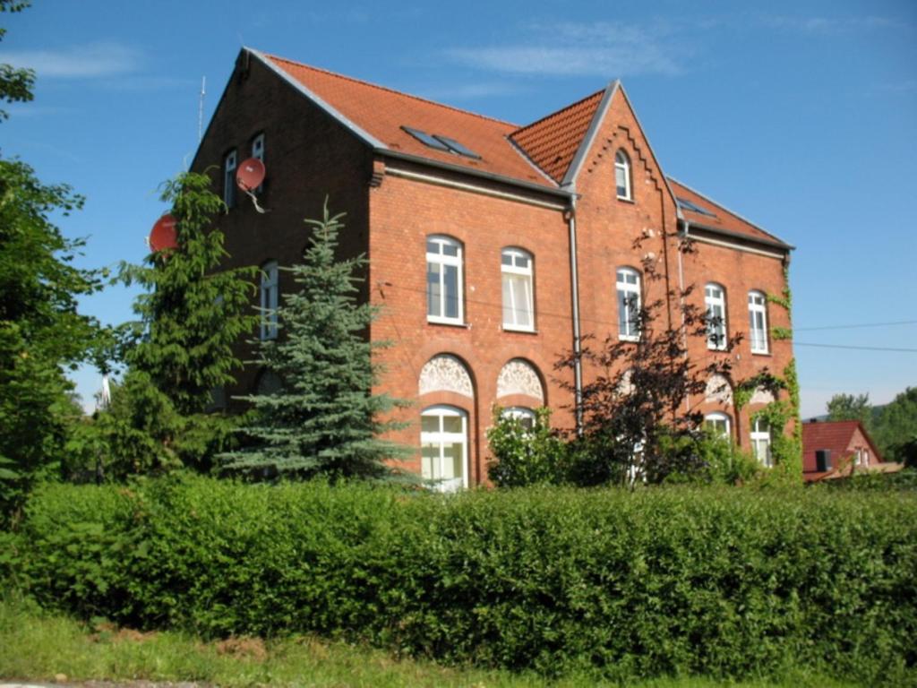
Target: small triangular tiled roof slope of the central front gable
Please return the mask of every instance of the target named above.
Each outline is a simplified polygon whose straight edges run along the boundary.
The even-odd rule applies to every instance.
[[[512,139],[555,182],[562,182],[606,89],[513,132]]]

